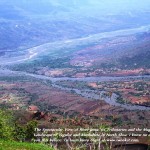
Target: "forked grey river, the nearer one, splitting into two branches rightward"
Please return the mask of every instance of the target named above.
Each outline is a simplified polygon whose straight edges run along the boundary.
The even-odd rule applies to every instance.
[[[89,98],[90,100],[104,100],[106,103],[112,105],[112,106],[119,106],[122,108],[125,108],[127,110],[150,110],[150,107],[146,106],[139,106],[139,105],[131,105],[131,104],[120,104],[117,103],[116,98],[117,95],[115,93],[112,94],[112,97],[102,97],[104,91],[99,90],[89,90],[89,89],[75,89],[75,88],[67,88],[56,84],[56,81],[85,81],[85,82],[91,82],[91,81],[126,81],[126,80],[137,80],[137,79],[150,79],[150,76],[126,76],[126,77],[85,77],[85,78],[69,78],[69,77],[62,77],[62,78],[52,78],[47,77],[44,75],[36,75],[21,71],[11,71],[7,69],[0,69],[0,76],[29,76],[34,77],[36,79],[42,79],[42,80],[50,80],[52,82],[52,86],[55,88],[59,88],[64,91],[73,91],[74,93],[81,95],[85,98]]]

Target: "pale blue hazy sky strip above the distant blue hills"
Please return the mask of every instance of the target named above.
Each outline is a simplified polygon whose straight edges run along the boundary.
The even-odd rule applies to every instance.
[[[122,13],[149,11],[150,0],[0,0],[1,3],[28,5],[27,7],[63,6],[87,13]],[[49,4],[49,5],[48,5]],[[50,6],[51,7],[51,6]],[[51,9],[51,8],[50,8]]]

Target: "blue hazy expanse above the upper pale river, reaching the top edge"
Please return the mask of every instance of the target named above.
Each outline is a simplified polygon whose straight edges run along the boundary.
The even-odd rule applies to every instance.
[[[122,7],[120,7],[122,6]],[[148,25],[149,2],[92,0],[3,0],[0,51]]]

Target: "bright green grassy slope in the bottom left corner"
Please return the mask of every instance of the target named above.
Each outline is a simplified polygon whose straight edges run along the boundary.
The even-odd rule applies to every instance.
[[[53,150],[43,144],[20,143],[15,141],[0,140],[0,150]]]

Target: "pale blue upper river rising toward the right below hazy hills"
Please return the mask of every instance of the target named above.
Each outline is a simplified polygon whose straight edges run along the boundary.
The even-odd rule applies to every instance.
[[[62,41],[55,41],[55,42],[50,42],[50,43],[44,43],[35,47],[31,47],[29,49],[24,50],[25,54],[23,55],[17,55],[14,57],[5,56],[5,57],[0,57],[0,65],[6,65],[6,64],[16,64],[20,62],[24,62],[27,60],[32,60],[39,55],[42,56],[46,53],[55,51],[57,52],[58,50],[62,48],[71,48],[73,46],[79,46],[83,44],[88,44],[88,43],[94,43],[94,42],[99,42],[102,39],[105,38],[113,38],[117,36],[129,36],[132,34],[139,34],[143,32],[147,32],[150,29],[150,25],[146,26],[139,26],[136,28],[127,28],[127,29],[122,29],[122,30],[116,30],[116,31],[110,31],[110,32],[102,32],[102,33],[97,33],[97,34],[90,34],[86,37],[80,37],[76,39],[67,39],[67,40],[62,40]]]

